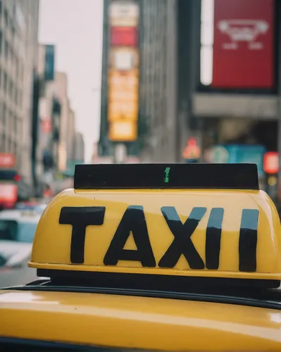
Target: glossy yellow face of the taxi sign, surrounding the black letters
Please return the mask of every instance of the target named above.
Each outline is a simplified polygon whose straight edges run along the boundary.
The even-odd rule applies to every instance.
[[[118,224],[128,206],[143,206],[149,239],[156,264],[166,253],[174,237],[161,213],[162,206],[174,206],[185,222],[193,207],[206,207],[204,218],[192,234],[192,242],[205,263],[206,226],[211,208],[224,208],[220,266],[218,270],[190,270],[184,256],[174,269],[142,268],[137,261],[120,260],[116,266],[105,266],[104,256]],[[85,263],[70,263],[72,226],[58,222],[63,206],[105,206],[104,225],[89,226],[85,239]],[[258,244],[256,272],[239,272],[239,230],[242,210],[258,209]],[[135,249],[132,235],[125,249]],[[68,189],[56,196],[44,211],[32,249],[32,268],[83,270],[99,272],[135,272],[161,275],[208,277],[281,278],[280,220],[273,202],[263,191],[225,190],[92,190]]]

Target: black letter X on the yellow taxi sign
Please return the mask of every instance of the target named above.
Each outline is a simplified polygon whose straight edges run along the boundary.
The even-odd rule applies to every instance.
[[[192,269],[204,269],[204,261],[196,251],[190,237],[206,213],[206,208],[193,208],[184,224],[173,206],[161,208],[162,214],[175,239],[158,263],[160,268],[174,268],[183,254]]]

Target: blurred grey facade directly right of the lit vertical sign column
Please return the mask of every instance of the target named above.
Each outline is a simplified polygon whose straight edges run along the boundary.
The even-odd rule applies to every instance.
[[[139,138],[143,162],[177,159],[176,1],[142,0]],[[146,130],[142,131],[142,125]]]

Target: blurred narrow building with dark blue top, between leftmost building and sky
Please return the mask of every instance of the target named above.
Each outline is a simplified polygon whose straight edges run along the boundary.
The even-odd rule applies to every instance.
[[[37,195],[58,170],[61,102],[55,76],[55,46],[40,44],[34,75],[32,171]]]

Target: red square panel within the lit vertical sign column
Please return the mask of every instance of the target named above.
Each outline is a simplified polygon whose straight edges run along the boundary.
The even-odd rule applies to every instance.
[[[111,27],[112,46],[137,46],[137,27]]]

